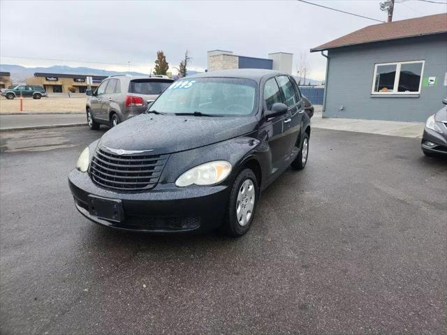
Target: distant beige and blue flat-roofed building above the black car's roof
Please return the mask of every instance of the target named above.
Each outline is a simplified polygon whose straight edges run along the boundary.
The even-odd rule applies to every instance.
[[[288,52],[274,52],[268,54],[268,59],[239,56],[231,51],[208,51],[208,71],[230,70],[235,68],[265,68],[292,73],[293,54]]]

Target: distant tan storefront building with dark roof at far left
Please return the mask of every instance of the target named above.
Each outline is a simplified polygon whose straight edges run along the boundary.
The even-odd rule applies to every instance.
[[[33,77],[27,78],[29,85],[41,85],[47,93],[67,93],[72,87],[75,93],[85,93],[89,88],[87,84],[89,75],[66,75],[64,73],[34,73]],[[91,89],[96,89],[106,78],[103,75],[90,75]]]

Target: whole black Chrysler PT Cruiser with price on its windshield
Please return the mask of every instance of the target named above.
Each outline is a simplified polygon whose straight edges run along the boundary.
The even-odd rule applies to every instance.
[[[261,191],[307,163],[310,119],[293,77],[223,70],[178,80],[110,129],[68,175],[91,221],[143,232],[242,235]]]

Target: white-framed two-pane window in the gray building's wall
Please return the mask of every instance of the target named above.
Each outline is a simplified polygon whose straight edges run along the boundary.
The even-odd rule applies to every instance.
[[[372,94],[420,94],[424,61],[376,64]]]

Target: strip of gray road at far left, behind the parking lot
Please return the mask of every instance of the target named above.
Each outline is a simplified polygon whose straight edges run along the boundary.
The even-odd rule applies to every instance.
[[[0,129],[59,124],[87,124],[85,114],[0,115]]]

